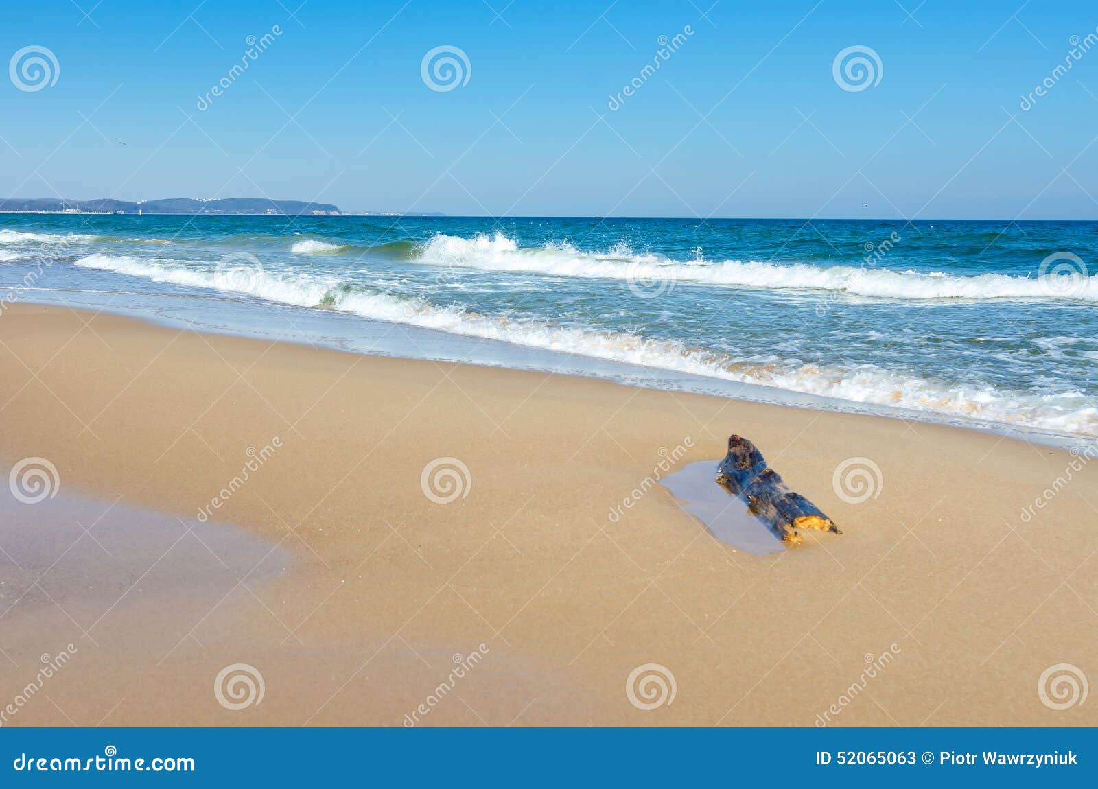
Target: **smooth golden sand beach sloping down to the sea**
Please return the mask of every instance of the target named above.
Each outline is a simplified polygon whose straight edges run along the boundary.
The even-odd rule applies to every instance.
[[[836,723],[1098,723],[1093,699],[1054,711],[1038,695],[1054,664],[1098,678],[1098,463],[1019,518],[1064,450],[33,305],[0,316],[0,406],[5,470],[46,458],[61,496],[107,510],[87,533],[36,527],[40,551],[67,551],[41,579],[0,545],[0,707],[41,654],[78,650],[10,725],[401,725],[480,644],[424,724],[811,725],[893,644]],[[738,553],[661,487],[610,522],[661,448],[690,438],[683,463],[716,459],[733,431],[843,534]],[[219,571],[182,525],[145,566],[79,585],[60,570],[108,561],[91,536],[111,533],[112,501],[193,522],[274,437],[216,512],[280,546],[256,574]],[[440,457],[471,474],[447,505],[421,489]],[[851,457],[884,481],[859,505],[832,489]],[[235,663],[266,686],[240,711],[213,692]],[[647,663],[676,685],[651,711],[626,694]]]

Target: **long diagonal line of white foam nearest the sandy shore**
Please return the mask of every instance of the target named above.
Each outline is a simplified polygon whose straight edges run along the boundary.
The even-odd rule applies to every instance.
[[[91,255],[76,266],[144,277],[157,282],[219,288],[211,268],[188,268],[170,260],[143,261],[130,256]],[[333,278],[261,272],[238,283],[246,295],[298,306],[328,306],[376,320],[424,328],[562,353],[639,364],[660,370],[762,384],[854,403],[886,405],[954,417],[1012,422],[1041,429],[1098,435],[1098,408],[1077,394],[1037,395],[1001,392],[925,379],[870,364],[843,368],[738,359],[690,348],[672,340],[635,334],[568,327],[534,318],[482,315],[423,298],[378,292],[345,292]]]

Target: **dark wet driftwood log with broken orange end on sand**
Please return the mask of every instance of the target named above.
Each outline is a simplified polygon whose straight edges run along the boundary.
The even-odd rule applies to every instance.
[[[802,543],[797,529],[842,533],[816,505],[786,487],[778,473],[766,465],[762,452],[740,436],[728,439],[728,454],[717,466],[717,484],[747,499],[752,515],[786,545]]]

